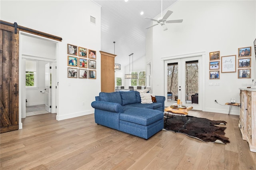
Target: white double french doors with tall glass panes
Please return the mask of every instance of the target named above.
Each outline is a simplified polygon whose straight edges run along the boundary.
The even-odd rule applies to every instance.
[[[192,105],[202,110],[202,57],[186,57],[164,61],[166,106]]]

